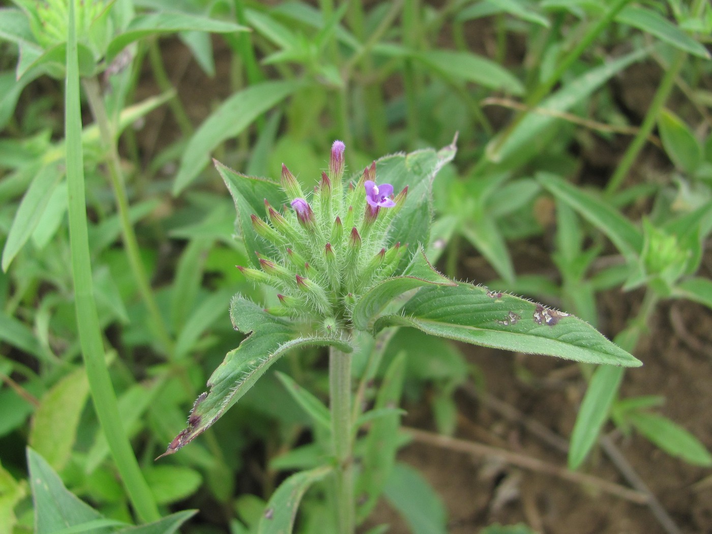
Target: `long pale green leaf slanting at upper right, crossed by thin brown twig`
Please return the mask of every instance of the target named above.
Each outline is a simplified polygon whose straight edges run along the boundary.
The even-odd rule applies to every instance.
[[[543,100],[538,106],[543,111],[563,112],[570,110],[577,103],[595,92],[601,85],[607,82],[612,76],[627,68],[631,63],[640,61],[647,56],[648,51],[638,50],[604,63],[600,67],[592,68],[577,78],[563,85],[560,90]],[[543,132],[560,120],[546,113],[532,110],[521,120],[511,132],[503,132],[506,135],[502,141],[501,135],[491,140],[486,152],[493,162],[503,162],[510,158],[520,158],[522,155],[535,155],[543,147],[540,139],[544,139]]]

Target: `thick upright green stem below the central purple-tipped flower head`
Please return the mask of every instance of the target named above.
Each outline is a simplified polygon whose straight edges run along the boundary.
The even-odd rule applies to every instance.
[[[351,437],[351,355],[329,349],[331,431],[336,456],[336,505],[339,534],[354,532]]]

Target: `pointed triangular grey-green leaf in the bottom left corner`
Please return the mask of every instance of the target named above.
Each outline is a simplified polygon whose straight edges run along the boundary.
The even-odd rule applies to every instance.
[[[47,461],[29,447],[27,465],[30,471],[36,534],[51,534],[62,528],[103,519],[103,515],[68,491]],[[92,532],[108,534],[112,530],[97,528]]]

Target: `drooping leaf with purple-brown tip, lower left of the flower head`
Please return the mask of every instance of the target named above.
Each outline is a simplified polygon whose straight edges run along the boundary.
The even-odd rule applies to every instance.
[[[248,336],[214,370],[208,380],[210,391],[196,399],[187,428],[173,439],[162,456],[173,454],[209,429],[288,350],[304,345],[333,345],[343,352],[352,350],[347,342],[334,337],[297,337],[288,321],[270,315],[241,295],[232,299],[230,317],[235,329]]]

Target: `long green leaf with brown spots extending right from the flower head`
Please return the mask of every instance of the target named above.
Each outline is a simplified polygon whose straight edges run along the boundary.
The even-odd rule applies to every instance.
[[[530,300],[468,283],[422,288],[401,313],[379,318],[375,331],[391,325],[412,326],[473,345],[578,362],[642,365],[585,321]]]

